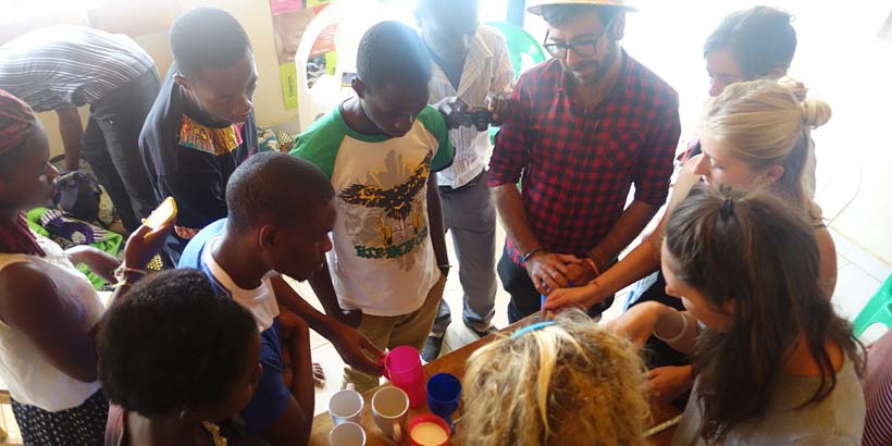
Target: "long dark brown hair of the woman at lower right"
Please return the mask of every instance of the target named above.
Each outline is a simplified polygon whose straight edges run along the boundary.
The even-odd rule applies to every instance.
[[[666,234],[666,260],[678,278],[716,308],[733,302],[733,327],[705,331],[694,355],[704,439],[718,441],[766,414],[801,335],[821,380],[802,406],[821,401],[837,385],[827,342],[862,371],[851,325],[821,294],[818,246],[801,213],[768,195],[697,187],[672,212]]]

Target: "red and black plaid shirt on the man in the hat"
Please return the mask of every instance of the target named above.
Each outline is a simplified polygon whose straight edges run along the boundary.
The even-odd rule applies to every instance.
[[[567,88],[559,61],[521,76],[512,116],[496,136],[491,187],[523,173],[523,209],[543,246],[584,253],[610,231],[635,185],[635,199],[662,206],[681,133],[678,94],[622,52],[619,80],[590,113]],[[508,253],[522,252],[507,240]]]

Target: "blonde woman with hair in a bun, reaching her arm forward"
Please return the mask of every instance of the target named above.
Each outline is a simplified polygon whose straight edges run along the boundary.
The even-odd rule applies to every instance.
[[[829,299],[837,283],[835,248],[803,181],[806,160],[814,149],[810,131],[829,119],[830,106],[805,99],[805,88],[792,80],[753,80],[726,87],[706,106],[701,124],[703,153],[684,163],[659,226],[622,261],[585,286],[548,295],[545,307],[589,308],[656,271],[666,223],[699,182],[740,190],[766,189],[806,215],[820,251],[820,290]],[[682,308],[679,299],[657,295],[652,299]],[[661,367],[672,362],[665,359],[671,356],[671,349],[660,343],[648,340],[648,347],[661,355],[652,362],[656,369],[648,372],[648,389],[657,398],[672,399],[690,388],[691,369],[679,362]]]

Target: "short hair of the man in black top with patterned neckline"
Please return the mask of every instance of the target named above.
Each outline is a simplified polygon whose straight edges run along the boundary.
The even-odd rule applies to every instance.
[[[232,14],[216,8],[188,11],[171,26],[173,59],[187,76],[206,67],[233,66],[250,50],[245,28]]]

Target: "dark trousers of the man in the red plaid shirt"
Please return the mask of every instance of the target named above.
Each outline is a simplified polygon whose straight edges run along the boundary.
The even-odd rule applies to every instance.
[[[508,301],[508,322],[515,323],[540,311],[542,295],[536,290],[533,281],[526,274],[526,270],[511,260],[507,247],[503,248],[501,259],[498,260],[496,270],[498,271],[498,277],[501,280],[501,286],[511,295],[511,300]],[[614,296],[610,296],[602,303],[593,306],[586,313],[592,318],[599,317],[604,310],[610,308],[611,303],[614,303]]]

